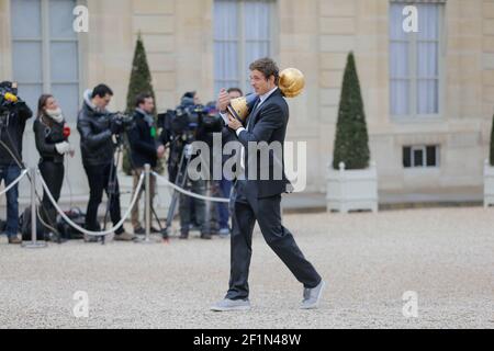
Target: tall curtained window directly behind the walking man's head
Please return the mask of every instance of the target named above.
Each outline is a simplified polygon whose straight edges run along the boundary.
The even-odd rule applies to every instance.
[[[214,89],[249,92],[248,66],[272,54],[273,1],[214,1]]]

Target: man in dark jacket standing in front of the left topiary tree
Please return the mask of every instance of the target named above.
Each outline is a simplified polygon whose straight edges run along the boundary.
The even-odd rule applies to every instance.
[[[155,110],[155,102],[149,93],[142,93],[136,97],[136,109],[134,111],[133,126],[128,132],[128,143],[131,145],[131,160],[134,176],[134,193],[137,188],[137,183],[141,174],[144,171],[144,166],[150,165],[155,170],[158,159],[165,156],[165,146],[157,145],[156,141],[156,125],[153,116]],[[155,197],[156,178],[150,176],[149,178],[149,192],[150,203],[153,205],[153,199]],[[145,229],[139,223],[139,199],[142,190],[138,194],[137,202],[132,210],[132,226],[134,227],[134,234],[145,234]],[[151,233],[159,233],[156,228],[151,227]]]

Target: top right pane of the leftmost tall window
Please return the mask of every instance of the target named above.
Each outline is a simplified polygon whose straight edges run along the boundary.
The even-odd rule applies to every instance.
[[[49,0],[49,35],[52,38],[76,38],[74,32],[75,0]]]

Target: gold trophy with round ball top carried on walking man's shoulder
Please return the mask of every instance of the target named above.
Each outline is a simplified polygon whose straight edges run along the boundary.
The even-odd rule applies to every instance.
[[[285,98],[295,98],[302,93],[305,87],[304,75],[296,68],[287,68],[280,72],[278,88]],[[256,102],[257,95],[250,94],[233,99],[227,107],[229,114],[245,123]]]

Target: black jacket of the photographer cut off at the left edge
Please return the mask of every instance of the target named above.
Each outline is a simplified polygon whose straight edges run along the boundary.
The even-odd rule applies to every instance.
[[[33,116],[33,112],[25,104],[24,101],[19,101],[13,104],[10,113],[5,117],[2,123],[5,125],[2,126],[0,131],[1,140],[10,148],[10,150],[22,160],[22,135],[25,129],[25,122]],[[16,165],[12,156],[9,151],[0,145],[0,166],[13,166]]]

